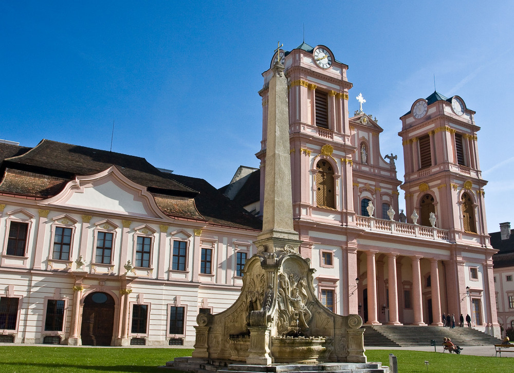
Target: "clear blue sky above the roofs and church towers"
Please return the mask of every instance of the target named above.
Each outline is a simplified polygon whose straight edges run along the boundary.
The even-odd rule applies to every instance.
[[[514,226],[513,18],[510,1],[0,0],[0,139],[109,150],[114,121],[113,151],[222,187],[259,166],[261,73],[305,25],[307,44],[350,67],[350,111],[362,92],[400,180],[398,118],[434,74],[476,111],[495,232]]]

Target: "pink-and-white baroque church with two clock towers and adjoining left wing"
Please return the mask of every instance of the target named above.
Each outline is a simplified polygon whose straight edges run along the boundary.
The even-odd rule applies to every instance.
[[[438,92],[406,108],[402,182],[376,118],[348,113],[348,66],[302,43],[263,73],[260,169],[240,167],[219,191],[135,156],[0,143],[0,342],[193,345],[196,315],[237,299],[256,252],[279,59],[293,224],[322,304],[371,325],[469,314],[500,336],[474,111]]]

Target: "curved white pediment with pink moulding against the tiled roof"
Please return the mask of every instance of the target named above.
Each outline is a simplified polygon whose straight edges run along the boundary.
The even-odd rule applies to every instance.
[[[166,219],[146,187],[125,177],[115,166],[95,175],[77,176],[61,193],[40,203],[79,211]]]

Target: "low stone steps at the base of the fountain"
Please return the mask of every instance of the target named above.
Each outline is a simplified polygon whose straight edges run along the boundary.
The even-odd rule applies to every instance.
[[[163,367],[164,368],[164,367]],[[320,364],[230,364],[194,358],[175,358],[166,368],[198,373],[389,373],[389,367],[381,363],[320,363]]]

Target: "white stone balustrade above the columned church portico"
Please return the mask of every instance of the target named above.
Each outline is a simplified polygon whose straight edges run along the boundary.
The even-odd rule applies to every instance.
[[[403,236],[423,237],[429,239],[448,240],[448,230],[402,223],[394,220],[377,219],[369,216],[355,217],[357,227],[369,231],[388,232]]]

